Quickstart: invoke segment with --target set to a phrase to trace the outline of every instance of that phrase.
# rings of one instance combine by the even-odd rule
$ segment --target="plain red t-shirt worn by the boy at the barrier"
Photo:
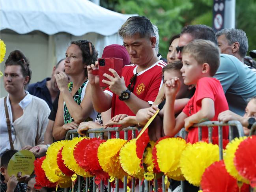
[[[214,101],[215,116],[210,121],[217,121],[220,112],[228,110],[228,102],[224,95],[222,86],[216,78],[200,78],[196,84],[196,91],[189,103],[183,109],[187,116],[197,113],[201,109],[202,99],[211,98]],[[228,139],[228,127],[222,128],[223,138]],[[213,137],[218,136],[218,127],[213,127]],[[207,127],[202,127],[202,138],[208,137]],[[191,144],[198,142],[198,127],[189,129],[187,142]]]

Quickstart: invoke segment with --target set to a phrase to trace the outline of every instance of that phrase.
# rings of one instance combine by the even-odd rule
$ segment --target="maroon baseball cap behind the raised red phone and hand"
[[[123,59],[123,66],[130,64],[130,56],[125,47],[112,44],[104,48],[102,58],[115,57]]]

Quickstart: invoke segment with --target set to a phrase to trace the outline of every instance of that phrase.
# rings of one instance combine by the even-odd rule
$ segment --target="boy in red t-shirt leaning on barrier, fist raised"
[[[183,111],[175,118],[174,101],[180,88],[180,81],[177,77],[166,81],[164,134],[174,136],[185,126],[189,131],[187,142],[193,144],[198,141],[198,127],[191,126],[205,120],[217,121],[219,113],[228,110],[228,103],[219,80],[212,78],[220,63],[219,48],[216,45],[211,41],[194,40],[183,48],[182,62],[184,84],[194,85],[196,91]],[[218,136],[217,127],[213,127],[213,136]],[[207,137],[208,129],[203,127],[202,138]],[[223,138],[228,138],[227,127],[223,127]]]

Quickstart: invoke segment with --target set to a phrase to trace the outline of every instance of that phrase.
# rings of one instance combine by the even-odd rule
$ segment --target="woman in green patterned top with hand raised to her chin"
[[[98,53],[90,41],[72,41],[65,54],[65,72],[56,74],[60,89],[58,110],[52,135],[56,140],[65,137],[68,130],[77,129],[79,123],[92,121],[97,116],[90,98],[87,65],[97,60]],[[67,84],[67,75],[73,80]]]

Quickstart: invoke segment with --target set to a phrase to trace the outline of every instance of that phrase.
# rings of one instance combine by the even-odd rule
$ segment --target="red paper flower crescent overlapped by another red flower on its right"
[[[83,139],[82,141],[78,142],[77,145],[74,147],[74,158],[77,164],[84,169],[84,151],[87,145],[92,141],[91,138]]]

